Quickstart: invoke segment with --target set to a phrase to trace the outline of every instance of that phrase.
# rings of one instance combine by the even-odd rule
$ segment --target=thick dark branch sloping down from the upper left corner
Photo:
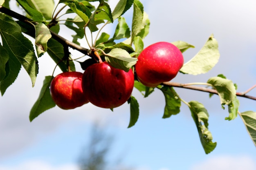
[[[30,23],[33,23],[33,24],[38,24],[38,22],[34,22],[33,20],[23,16],[23,15],[20,15],[19,13],[16,13],[8,8],[5,8],[3,6],[0,5],[0,12],[2,13],[5,13],[13,18],[16,18],[17,20],[25,23],[25,24],[28,24],[29,26],[31,26],[27,21],[29,21]],[[54,33],[52,30],[50,30],[51,34],[52,34],[52,38],[54,38],[55,40],[57,40],[58,42],[60,42],[61,44],[66,44],[67,46],[71,47],[72,49],[75,49],[77,51],[80,51],[81,53],[85,54],[85,55],[90,55],[90,50],[89,49],[85,49],[83,48],[82,46],[79,46],[78,44],[75,44],[74,42],[71,42],[63,37],[61,37],[60,35]],[[26,33],[28,34],[29,36],[35,38],[35,35],[32,34],[31,32],[29,33]]]

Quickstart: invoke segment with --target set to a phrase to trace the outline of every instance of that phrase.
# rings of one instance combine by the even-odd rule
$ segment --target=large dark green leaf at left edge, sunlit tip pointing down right
[[[34,86],[38,74],[38,61],[31,41],[24,37],[16,22],[3,14],[0,14],[0,35],[2,40],[6,42],[3,44],[4,48],[11,49],[8,52],[19,60],[29,74],[32,86]]]

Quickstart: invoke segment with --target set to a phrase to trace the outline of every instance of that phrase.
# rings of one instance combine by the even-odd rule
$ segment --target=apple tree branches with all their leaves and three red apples
[[[209,113],[198,101],[185,101],[175,88],[187,88],[218,95],[220,106],[227,107],[229,121],[238,115],[243,120],[252,141],[256,145],[256,112],[240,112],[239,97],[256,100],[247,91],[237,92],[234,84],[225,75],[209,77],[202,83],[176,83],[171,80],[179,74],[199,75],[213,68],[220,57],[218,42],[210,35],[206,43],[191,60],[184,63],[183,55],[193,45],[184,41],[155,42],[144,47],[144,38],[149,33],[150,20],[139,0],[119,0],[111,10],[104,0],[16,0],[23,13],[10,8],[9,0],[0,0],[0,91],[4,95],[15,82],[23,67],[34,86],[38,75],[38,58],[49,57],[63,73],[54,77],[46,75],[38,99],[31,108],[29,119],[54,106],[60,109],[75,109],[91,102],[95,106],[112,109],[128,102],[130,123],[135,125],[139,117],[139,101],[132,96],[137,89],[144,97],[163,93],[165,107],[163,118],[180,113],[181,104],[191,111],[202,147],[206,154],[216,148],[208,129]],[[47,4],[47,5],[45,5]],[[127,24],[124,13],[133,10],[132,23]],[[102,31],[117,20],[115,33]],[[61,35],[60,25],[74,31],[72,40]],[[90,42],[88,36],[92,37]],[[95,36],[92,36],[95,35]],[[32,41],[27,37],[34,38]],[[84,38],[89,48],[79,44]],[[81,57],[72,58],[70,49],[81,52]],[[48,55],[45,55],[47,53]],[[81,60],[83,60],[81,62]],[[79,65],[74,63],[78,62]],[[81,66],[84,73],[76,72]],[[202,87],[203,86],[203,87]],[[38,118],[40,119],[40,117]]]

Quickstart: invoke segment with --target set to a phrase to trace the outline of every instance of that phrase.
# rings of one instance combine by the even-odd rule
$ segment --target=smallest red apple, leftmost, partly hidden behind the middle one
[[[54,77],[50,85],[50,93],[57,106],[72,109],[88,103],[81,86],[82,76],[83,73],[73,71]]]

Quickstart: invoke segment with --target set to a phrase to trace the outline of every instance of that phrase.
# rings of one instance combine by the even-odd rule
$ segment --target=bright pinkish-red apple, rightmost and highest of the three
[[[148,87],[155,87],[173,79],[183,63],[180,49],[169,42],[157,42],[139,54],[135,71],[139,82]]]

